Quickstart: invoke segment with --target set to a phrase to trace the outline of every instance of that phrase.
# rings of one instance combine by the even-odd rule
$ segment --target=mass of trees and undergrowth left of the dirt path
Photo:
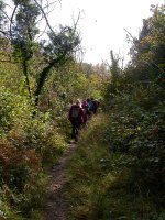
[[[0,219],[43,217],[45,167],[66,150],[70,103],[96,96],[105,80],[99,66],[77,64],[76,24],[51,28],[36,1],[0,1]],[[46,40],[38,21],[45,18]],[[46,32],[45,32],[46,34]]]

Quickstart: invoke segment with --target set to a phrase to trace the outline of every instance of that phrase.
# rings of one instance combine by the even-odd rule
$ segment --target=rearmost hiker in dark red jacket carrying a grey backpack
[[[77,99],[76,103],[70,107],[68,119],[73,125],[72,139],[78,141],[79,130],[84,123],[84,110],[79,99]]]

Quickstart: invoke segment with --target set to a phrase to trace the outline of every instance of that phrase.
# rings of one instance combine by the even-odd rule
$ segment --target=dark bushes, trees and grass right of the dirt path
[[[68,165],[72,220],[165,218],[164,9],[152,8],[124,70],[111,52],[106,113],[90,122]]]

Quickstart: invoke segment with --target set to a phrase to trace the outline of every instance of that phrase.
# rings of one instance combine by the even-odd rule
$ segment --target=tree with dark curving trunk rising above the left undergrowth
[[[38,105],[38,98],[48,77],[48,74],[54,67],[64,64],[76,52],[79,41],[79,35],[76,31],[77,22],[73,28],[61,26],[59,30],[53,30],[48,23],[45,8],[42,7],[42,1],[36,0],[12,0],[13,9],[11,15],[4,11],[4,6],[0,7],[0,11],[8,19],[8,30],[0,29],[3,37],[8,37],[13,47],[13,58],[22,66],[22,73],[25,77],[26,88],[30,98],[35,99],[35,105]],[[47,1],[46,8],[50,7]],[[2,4],[0,4],[2,6]],[[1,19],[2,22],[3,18]],[[45,20],[48,31],[47,40],[38,41],[38,21]],[[45,36],[46,38],[46,36]],[[42,57],[42,68],[35,69],[37,57]],[[32,91],[30,75],[35,79],[35,88]]]

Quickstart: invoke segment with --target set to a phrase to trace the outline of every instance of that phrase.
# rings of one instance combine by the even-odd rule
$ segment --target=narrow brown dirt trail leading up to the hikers
[[[45,220],[66,220],[65,211],[67,207],[63,198],[64,173],[66,162],[72,157],[76,145],[70,144],[57,165],[50,170]]]

